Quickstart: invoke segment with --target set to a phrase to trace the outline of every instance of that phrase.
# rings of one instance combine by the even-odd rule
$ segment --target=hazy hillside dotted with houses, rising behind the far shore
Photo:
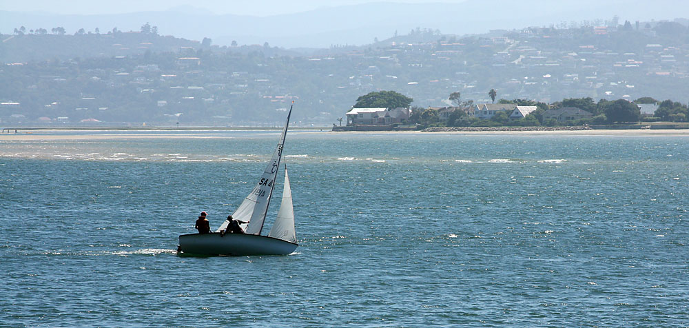
[[[358,96],[380,90],[410,96],[413,107],[438,109],[440,120],[449,119],[450,107],[479,119],[502,111],[524,118],[535,103],[575,98],[652,97],[657,103],[686,104],[689,47],[682,38],[689,35],[688,26],[687,19],[613,17],[464,37],[418,28],[370,45],[310,54],[267,43],[219,46],[210,39],[178,39],[149,24],[134,32],[115,28],[74,35],[59,28],[20,27],[0,36],[0,120],[12,125],[274,126],[289,103],[298,101],[302,111],[296,125],[328,126],[338,123],[343,108]],[[56,41],[92,56],[41,45]],[[497,90],[495,101],[533,104],[493,105],[491,89]],[[461,92],[475,105],[453,104],[451,92]],[[639,104],[642,114],[652,116],[657,103]],[[362,124],[351,114],[348,122]],[[404,116],[387,114],[390,122]],[[575,109],[553,119],[561,121],[560,116],[590,119]]]

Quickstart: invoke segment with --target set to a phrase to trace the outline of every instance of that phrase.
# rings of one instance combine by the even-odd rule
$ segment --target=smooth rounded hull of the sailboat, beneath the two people
[[[299,245],[269,236],[255,234],[183,234],[179,251],[184,255],[287,255]]]

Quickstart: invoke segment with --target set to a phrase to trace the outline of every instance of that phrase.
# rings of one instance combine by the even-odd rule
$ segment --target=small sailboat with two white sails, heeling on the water
[[[237,207],[232,217],[238,221],[247,222],[240,227],[244,234],[223,234],[229,221],[225,221],[215,232],[209,234],[183,234],[179,236],[179,255],[287,255],[298,247],[296,232],[294,229],[294,207],[292,206],[292,193],[289,187],[287,165],[282,164],[285,170],[285,183],[282,190],[282,202],[278,209],[278,216],[267,236],[261,235],[263,224],[270,204],[273,189],[276,185],[280,160],[282,159],[282,147],[285,145],[285,134],[289,125],[289,116],[292,106],[287,113],[287,122],[282,127],[282,134],[278,146],[273,152],[273,157],[265,171],[251,190],[249,196]]]

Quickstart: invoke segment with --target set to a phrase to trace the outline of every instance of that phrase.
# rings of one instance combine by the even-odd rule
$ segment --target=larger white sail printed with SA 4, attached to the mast
[[[287,113],[287,122],[285,122],[285,127],[282,127],[282,135],[280,135],[278,146],[275,148],[275,152],[273,152],[273,157],[260,176],[260,180],[256,183],[256,187],[251,190],[249,196],[244,198],[244,201],[232,213],[232,218],[249,222],[246,227],[243,227],[246,234],[260,234],[263,229],[265,214],[268,210],[270,198],[273,195],[275,178],[278,176],[278,167],[280,167],[280,159],[282,158],[282,146],[285,144],[285,134],[287,134],[287,126],[289,125],[289,116],[291,114],[292,107],[290,106],[289,113]],[[216,232],[227,229],[228,224],[228,221],[223,222]]]

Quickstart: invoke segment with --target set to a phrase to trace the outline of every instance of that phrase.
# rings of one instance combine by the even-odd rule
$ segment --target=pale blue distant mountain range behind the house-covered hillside
[[[80,28],[101,33],[139,30],[149,22],[161,34],[214,44],[261,44],[282,48],[328,48],[330,45],[363,45],[374,38],[388,39],[397,31],[407,34],[413,28],[438,29],[444,34],[477,34],[495,29],[544,26],[599,19],[670,19],[678,12],[689,12],[681,0],[468,0],[462,3],[364,3],[325,7],[295,14],[269,17],[216,15],[197,8],[127,14],[65,15],[46,12],[0,11],[0,32],[14,28],[26,30],[61,26],[68,33]]]

